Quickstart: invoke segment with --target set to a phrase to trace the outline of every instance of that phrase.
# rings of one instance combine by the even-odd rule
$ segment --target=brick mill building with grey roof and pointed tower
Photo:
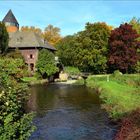
[[[38,52],[40,49],[48,49],[55,52],[56,49],[34,32],[19,31],[19,23],[11,10],[2,20],[5,23],[9,33],[9,50],[18,49],[28,65],[28,70],[35,71],[35,65],[38,60]]]

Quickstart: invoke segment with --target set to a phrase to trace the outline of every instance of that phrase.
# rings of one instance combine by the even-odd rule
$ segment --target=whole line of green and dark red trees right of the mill
[[[140,72],[140,21],[112,28],[106,23],[87,23],[85,29],[56,44],[65,66],[94,74]]]

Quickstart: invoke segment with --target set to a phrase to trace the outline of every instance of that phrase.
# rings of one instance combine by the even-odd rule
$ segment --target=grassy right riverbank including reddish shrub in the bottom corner
[[[115,140],[140,138],[140,75],[89,76],[88,87],[94,88],[114,120],[121,120]]]

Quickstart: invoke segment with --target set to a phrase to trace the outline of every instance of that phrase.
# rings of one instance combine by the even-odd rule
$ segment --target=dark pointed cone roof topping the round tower
[[[12,10],[9,10],[2,22],[10,22],[10,23],[15,23],[18,24],[17,19],[15,18]],[[19,24],[18,24],[19,25]]]

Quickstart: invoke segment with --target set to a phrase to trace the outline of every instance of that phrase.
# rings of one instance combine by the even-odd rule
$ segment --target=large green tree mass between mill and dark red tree
[[[107,69],[110,32],[110,26],[105,23],[87,23],[84,31],[68,36],[57,44],[58,56],[67,66],[104,73]]]

